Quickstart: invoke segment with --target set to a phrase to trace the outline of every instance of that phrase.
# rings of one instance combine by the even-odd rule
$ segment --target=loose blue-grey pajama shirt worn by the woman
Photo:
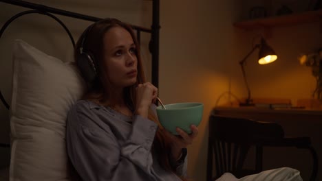
[[[153,105],[155,109],[155,105]],[[158,125],[92,101],[77,101],[67,118],[67,153],[77,173],[92,180],[180,180],[151,154]],[[173,162],[173,160],[171,161]],[[186,175],[186,158],[176,169]]]

